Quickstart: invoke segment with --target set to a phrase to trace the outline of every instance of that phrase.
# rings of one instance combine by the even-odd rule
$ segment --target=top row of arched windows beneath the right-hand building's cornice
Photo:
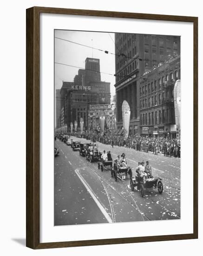
[[[150,83],[148,83],[148,85],[141,85],[140,87],[140,96],[141,95],[147,95],[150,94],[154,91],[157,91],[157,89],[160,89],[161,86],[164,85],[164,82],[167,81],[172,81],[172,80],[177,80],[178,79],[178,71],[176,70],[173,74],[173,72],[171,72],[170,74],[166,74],[163,75],[161,78],[159,78],[158,80],[154,80]]]

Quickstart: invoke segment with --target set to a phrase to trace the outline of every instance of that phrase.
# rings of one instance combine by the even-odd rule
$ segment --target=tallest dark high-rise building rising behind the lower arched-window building
[[[115,34],[117,128],[123,127],[122,103],[131,108],[130,134],[140,135],[140,77],[171,56],[180,54],[180,37]]]

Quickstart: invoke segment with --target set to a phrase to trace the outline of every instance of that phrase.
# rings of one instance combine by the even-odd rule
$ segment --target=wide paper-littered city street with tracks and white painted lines
[[[89,142],[71,136],[73,141]],[[98,143],[100,151],[111,151],[113,160],[125,154],[133,176],[138,162],[147,160],[153,176],[162,178],[163,194],[145,190],[144,197],[130,189],[125,180],[111,177],[109,168],[101,172],[98,162],[90,163],[79,151],[55,141],[59,156],[54,159],[54,225],[135,222],[180,219],[180,159],[139,152],[134,149]]]

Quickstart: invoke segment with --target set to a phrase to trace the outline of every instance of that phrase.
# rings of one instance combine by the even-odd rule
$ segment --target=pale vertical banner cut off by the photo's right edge
[[[179,79],[176,81],[176,83],[174,85],[173,95],[174,95],[174,108],[175,108],[177,138],[180,138],[181,101],[180,101],[180,80]]]

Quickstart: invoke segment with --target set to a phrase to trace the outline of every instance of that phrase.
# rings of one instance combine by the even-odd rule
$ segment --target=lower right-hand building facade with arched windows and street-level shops
[[[160,63],[140,79],[140,133],[176,137],[174,85],[180,80],[180,55]]]

